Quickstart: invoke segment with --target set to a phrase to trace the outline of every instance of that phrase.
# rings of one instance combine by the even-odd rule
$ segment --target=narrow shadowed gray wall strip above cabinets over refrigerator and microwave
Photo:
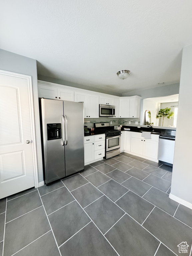
[[[114,93],[112,91],[109,92],[109,90],[98,89],[98,88],[83,85],[83,84],[76,84],[76,83],[72,83],[69,81],[65,81],[65,80],[61,80],[61,79],[53,78],[53,77],[48,77],[48,76],[38,75],[38,80],[55,83],[55,84],[62,84],[62,85],[70,86],[70,87],[93,91],[93,92],[100,92],[100,93],[106,93],[106,94],[111,94],[111,95],[115,95],[115,96],[122,96],[121,93]]]

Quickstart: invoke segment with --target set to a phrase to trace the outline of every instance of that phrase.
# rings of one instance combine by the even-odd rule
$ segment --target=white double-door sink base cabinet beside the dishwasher
[[[144,139],[141,133],[131,132],[130,152],[148,158],[158,159],[159,135],[151,134],[151,139]]]

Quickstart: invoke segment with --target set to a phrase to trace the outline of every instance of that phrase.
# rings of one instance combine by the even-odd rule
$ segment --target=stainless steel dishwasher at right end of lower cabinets
[[[173,164],[174,149],[175,137],[166,135],[159,136],[159,161]]]

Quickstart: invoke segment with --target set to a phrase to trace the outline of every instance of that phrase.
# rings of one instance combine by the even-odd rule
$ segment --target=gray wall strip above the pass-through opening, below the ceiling
[[[143,99],[145,99],[145,98],[173,95],[173,94],[178,94],[178,93],[179,93],[179,83],[164,85],[164,86],[155,87],[155,88],[146,89],[146,90],[124,93],[122,96],[138,95],[138,96],[141,96]]]

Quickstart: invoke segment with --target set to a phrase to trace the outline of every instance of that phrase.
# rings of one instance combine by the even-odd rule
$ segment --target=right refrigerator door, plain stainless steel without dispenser
[[[64,101],[66,176],[84,169],[84,110],[82,102]]]

